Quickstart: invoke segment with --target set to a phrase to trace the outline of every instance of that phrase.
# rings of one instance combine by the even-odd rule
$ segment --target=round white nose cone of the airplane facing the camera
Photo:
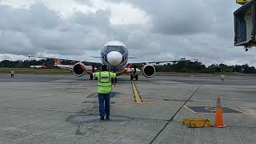
[[[110,63],[112,66],[118,66],[122,62],[122,54],[118,51],[111,51],[106,56],[107,62]]]

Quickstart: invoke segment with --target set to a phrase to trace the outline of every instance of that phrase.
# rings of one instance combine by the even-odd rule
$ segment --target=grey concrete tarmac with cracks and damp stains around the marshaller
[[[118,77],[110,121],[100,121],[97,82],[88,76],[0,74],[0,143],[256,142],[256,78],[141,76],[135,84],[142,103],[134,102],[129,79]],[[224,113],[226,128],[182,125],[183,118],[214,123],[210,106],[218,94],[222,106],[239,112]]]

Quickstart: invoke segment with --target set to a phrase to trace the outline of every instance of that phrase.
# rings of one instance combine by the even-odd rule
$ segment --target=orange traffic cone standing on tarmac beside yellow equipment
[[[218,128],[225,127],[224,122],[223,122],[222,106],[221,106],[221,95],[220,94],[218,94],[218,97],[217,97],[214,126],[218,127]]]

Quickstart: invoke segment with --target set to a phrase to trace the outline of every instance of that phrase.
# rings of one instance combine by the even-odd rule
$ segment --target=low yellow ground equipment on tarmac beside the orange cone
[[[204,118],[183,119],[182,124],[190,128],[211,127],[210,120]]]

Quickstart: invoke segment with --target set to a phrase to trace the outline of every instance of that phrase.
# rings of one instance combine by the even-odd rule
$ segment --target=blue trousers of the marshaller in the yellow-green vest
[[[104,106],[105,102],[105,106]],[[99,94],[98,93],[98,104],[99,104],[99,115],[108,116],[110,115],[110,93],[108,94]]]

